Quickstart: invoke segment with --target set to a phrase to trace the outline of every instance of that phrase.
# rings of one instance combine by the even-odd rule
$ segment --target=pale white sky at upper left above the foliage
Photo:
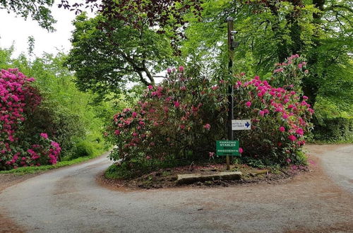
[[[72,20],[75,18],[73,11],[58,8],[57,3],[52,7],[52,16],[57,23],[54,25],[55,32],[48,32],[40,28],[40,25],[31,18],[25,20],[15,14],[8,14],[0,10],[0,47],[8,48],[14,43],[15,52],[18,56],[21,52],[28,53],[28,37],[35,37],[35,56],[41,56],[43,52],[56,54],[59,51],[68,52],[71,48],[70,38],[73,31]]]

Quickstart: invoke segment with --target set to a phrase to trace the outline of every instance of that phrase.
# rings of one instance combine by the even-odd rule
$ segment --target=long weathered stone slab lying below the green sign
[[[192,184],[198,181],[213,181],[216,179],[241,179],[241,172],[217,172],[214,174],[178,174],[177,184]]]

